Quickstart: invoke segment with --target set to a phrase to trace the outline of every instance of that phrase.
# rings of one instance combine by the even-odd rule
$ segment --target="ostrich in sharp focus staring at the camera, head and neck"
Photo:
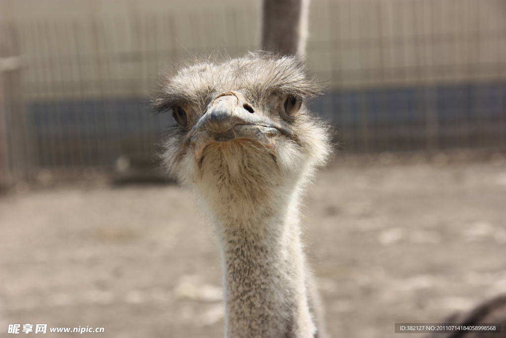
[[[269,52],[196,60],[160,80],[153,106],[177,122],[161,158],[214,224],[227,337],[325,336],[299,224],[331,151],[306,105],[320,93],[300,57]]]

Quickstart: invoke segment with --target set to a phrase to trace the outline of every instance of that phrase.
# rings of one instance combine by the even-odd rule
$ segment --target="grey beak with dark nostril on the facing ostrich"
[[[272,138],[279,134],[293,135],[282,126],[256,112],[238,92],[225,92],[211,102],[186,136],[185,143],[194,146],[197,162],[203,149],[213,142],[230,142],[244,138],[259,142],[274,151]]]

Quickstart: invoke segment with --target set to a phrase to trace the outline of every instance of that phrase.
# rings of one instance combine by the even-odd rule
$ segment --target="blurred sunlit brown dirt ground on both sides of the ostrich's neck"
[[[306,199],[306,251],[333,337],[401,338],[394,323],[441,322],[506,292],[504,157],[383,160],[333,164]],[[0,197],[2,336],[44,323],[222,337],[219,252],[193,198],[98,181]]]

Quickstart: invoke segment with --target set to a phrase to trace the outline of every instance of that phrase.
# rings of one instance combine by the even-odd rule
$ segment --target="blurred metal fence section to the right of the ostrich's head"
[[[315,5],[309,55],[331,94],[314,110],[344,151],[506,146],[506,2]]]

